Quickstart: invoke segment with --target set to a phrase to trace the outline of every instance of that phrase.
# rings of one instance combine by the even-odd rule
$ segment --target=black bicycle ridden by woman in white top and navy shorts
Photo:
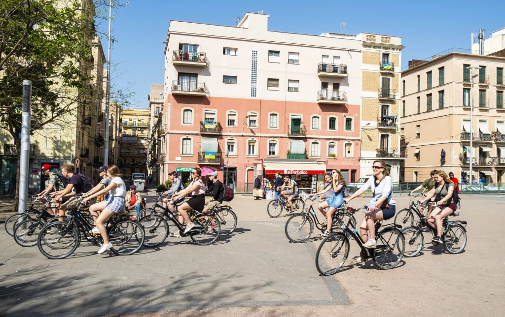
[[[354,215],[357,211],[365,208],[347,208],[347,212]],[[340,221],[339,221],[340,222]],[[352,225],[351,220],[347,224],[341,223],[342,232],[335,232],[324,238],[316,252],[316,268],[322,275],[332,275],[342,267],[349,255],[349,238],[354,238],[361,248],[360,257],[363,261],[372,259],[374,264],[382,270],[389,270],[400,263],[405,252],[405,238],[394,223],[383,226],[379,231],[382,220],[375,223],[375,239],[377,246],[366,248],[365,241],[358,234],[358,230]]]

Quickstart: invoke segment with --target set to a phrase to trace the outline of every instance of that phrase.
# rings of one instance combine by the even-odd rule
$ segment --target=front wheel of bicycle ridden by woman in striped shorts
[[[40,231],[37,245],[40,252],[49,259],[64,259],[79,245],[79,230],[73,224],[63,221],[47,223]]]

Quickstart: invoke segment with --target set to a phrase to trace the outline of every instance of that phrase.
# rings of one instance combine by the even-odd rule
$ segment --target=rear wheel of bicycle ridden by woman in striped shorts
[[[107,229],[111,250],[120,256],[128,256],[140,249],[144,243],[144,228],[136,221],[122,218]]]

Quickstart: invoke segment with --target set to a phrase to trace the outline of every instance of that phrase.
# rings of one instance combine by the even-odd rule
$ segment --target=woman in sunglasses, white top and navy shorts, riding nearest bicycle
[[[363,246],[367,248],[377,246],[377,241],[375,241],[375,222],[392,218],[396,211],[396,203],[393,198],[393,181],[391,176],[389,176],[386,163],[381,160],[374,161],[372,168],[374,172],[373,177],[370,177],[351,197],[344,199],[345,204],[347,204],[352,199],[363,194],[368,188],[372,188],[373,197],[368,203],[368,211],[360,225],[360,235],[363,241],[367,241]]]

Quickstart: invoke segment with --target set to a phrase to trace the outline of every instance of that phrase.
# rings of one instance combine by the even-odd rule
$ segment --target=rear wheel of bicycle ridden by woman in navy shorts
[[[396,228],[386,228],[376,237],[377,246],[372,251],[374,263],[379,269],[389,270],[400,263],[405,252],[405,237]]]

